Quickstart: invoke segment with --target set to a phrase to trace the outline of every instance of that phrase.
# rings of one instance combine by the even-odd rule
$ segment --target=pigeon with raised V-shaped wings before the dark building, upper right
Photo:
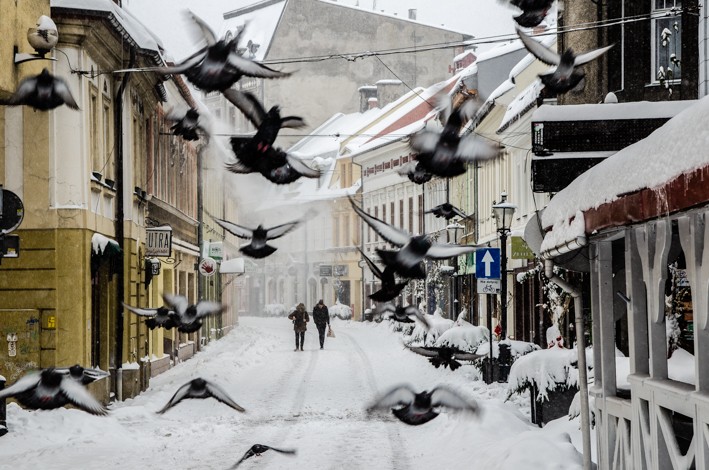
[[[544,86],[554,93],[566,93],[576,87],[585,76],[583,70],[579,69],[579,67],[600,57],[613,47],[611,44],[581,55],[574,54],[574,51],[569,48],[559,55],[519,29],[517,29],[517,35],[522,40],[524,47],[534,57],[547,65],[556,66],[551,72],[539,75]]]

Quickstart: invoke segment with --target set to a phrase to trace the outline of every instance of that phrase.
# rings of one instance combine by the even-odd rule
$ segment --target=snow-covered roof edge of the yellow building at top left
[[[67,10],[82,10],[109,16],[116,29],[123,32],[123,36],[135,42],[135,45],[144,51],[153,51],[162,54],[164,47],[160,39],[155,36],[129,11],[116,5],[111,0],[51,0],[52,9],[63,8]],[[121,31],[122,30],[122,31]]]

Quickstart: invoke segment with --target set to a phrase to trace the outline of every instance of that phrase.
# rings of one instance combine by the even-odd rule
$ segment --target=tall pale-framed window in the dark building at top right
[[[652,81],[666,83],[681,77],[682,0],[652,2]]]

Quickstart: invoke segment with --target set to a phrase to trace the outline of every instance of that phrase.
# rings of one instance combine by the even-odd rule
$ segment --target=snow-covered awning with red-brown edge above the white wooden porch
[[[709,203],[707,121],[709,97],[576,178],[542,215],[543,246]]]

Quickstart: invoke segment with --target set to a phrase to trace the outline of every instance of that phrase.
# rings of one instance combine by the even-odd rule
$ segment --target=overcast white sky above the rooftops
[[[226,11],[252,5],[259,0],[124,0],[123,6],[150,27],[163,41],[170,55],[180,60],[194,47],[185,31],[182,10],[189,8],[219,33],[222,14]],[[498,0],[339,0],[345,5],[360,8],[376,7],[385,13],[397,13],[406,18],[408,10],[417,10],[422,23],[444,25],[454,31],[472,34],[477,38],[514,33],[513,9],[500,5]],[[474,6],[473,6],[474,5]],[[481,46],[479,51],[490,46]]]

